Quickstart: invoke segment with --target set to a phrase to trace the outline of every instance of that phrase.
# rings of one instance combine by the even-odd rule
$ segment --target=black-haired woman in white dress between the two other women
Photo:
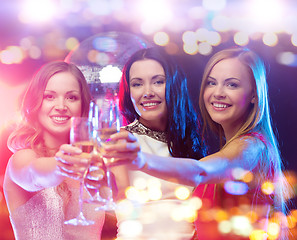
[[[123,132],[132,133],[143,152],[164,157],[200,159],[205,156],[206,149],[198,131],[200,122],[189,97],[187,78],[161,49],[142,49],[131,56],[123,69],[119,102],[128,122]],[[117,211],[119,238],[178,240],[193,234],[193,225],[186,219],[176,222],[171,218],[172,211],[183,204],[175,196],[175,190],[183,187],[189,196],[192,188],[141,171],[128,171],[128,178],[129,189],[139,188],[137,182],[143,181],[141,194],[147,197],[130,199],[133,211],[129,214]],[[150,196],[152,182],[155,182],[156,195]],[[152,214],[154,221],[144,221],[147,214]],[[135,233],[138,228],[130,229],[127,224],[131,221],[142,224],[142,231]]]

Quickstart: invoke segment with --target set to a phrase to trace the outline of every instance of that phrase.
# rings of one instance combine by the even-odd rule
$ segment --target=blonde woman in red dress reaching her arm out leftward
[[[108,146],[106,155],[117,151],[117,159],[129,162],[130,169],[198,186],[194,196],[203,202],[196,221],[199,240],[287,239],[283,214],[289,188],[272,129],[261,58],[245,48],[214,54],[204,70],[199,105],[204,128],[208,125],[220,137],[218,152],[199,161],[161,157],[139,151],[140,142],[130,134],[119,133],[112,139],[126,141]],[[229,234],[226,229],[220,233],[212,215],[219,209],[225,212],[226,221],[231,223],[237,216],[244,222],[236,229],[229,225]],[[203,221],[203,216],[213,221]]]

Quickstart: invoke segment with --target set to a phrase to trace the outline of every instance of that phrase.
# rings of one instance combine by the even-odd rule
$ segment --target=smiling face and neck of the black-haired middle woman
[[[129,75],[130,96],[139,121],[154,130],[165,130],[166,76],[162,65],[152,59],[136,61]]]

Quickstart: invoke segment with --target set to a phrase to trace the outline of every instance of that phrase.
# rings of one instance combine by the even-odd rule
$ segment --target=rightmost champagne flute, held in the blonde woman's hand
[[[102,103],[99,122],[98,122],[98,142],[100,144],[99,150],[103,154],[104,146],[113,144],[114,142],[110,139],[110,136],[120,130],[120,117],[118,105],[115,97],[106,97]],[[106,186],[103,187],[104,197],[106,203],[102,207],[98,207],[96,210],[115,210],[116,203],[113,199],[113,190],[116,188],[115,178],[110,170],[110,165],[114,162],[114,158],[102,157],[106,166]]]

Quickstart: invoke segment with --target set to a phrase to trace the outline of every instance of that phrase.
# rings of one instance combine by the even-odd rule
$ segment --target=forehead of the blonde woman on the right
[[[210,71],[210,76],[221,78],[250,79],[249,67],[238,58],[228,58],[219,61]]]

